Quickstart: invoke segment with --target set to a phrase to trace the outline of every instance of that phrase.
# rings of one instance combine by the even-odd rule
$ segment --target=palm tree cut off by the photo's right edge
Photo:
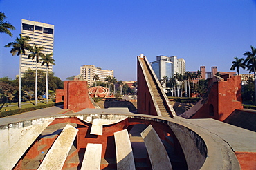
[[[246,57],[246,60],[244,63],[246,63],[247,70],[254,74],[254,83],[255,83],[255,101],[256,101],[256,49],[252,45],[250,46],[250,49],[252,50],[247,51],[244,53],[244,56]]]

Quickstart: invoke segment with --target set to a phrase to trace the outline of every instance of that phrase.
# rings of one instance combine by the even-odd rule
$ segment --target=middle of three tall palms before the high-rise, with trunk
[[[37,63],[39,63],[39,58],[44,58],[44,54],[42,53],[42,50],[44,49],[43,46],[38,47],[34,43],[34,47],[30,49],[30,54],[28,55],[28,59],[35,59],[35,105],[37,106]]]

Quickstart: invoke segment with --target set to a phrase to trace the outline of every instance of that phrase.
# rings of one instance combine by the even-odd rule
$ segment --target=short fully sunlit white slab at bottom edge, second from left
[[[81,170],[99,170],[102,144],[88,143],[84,153]]]

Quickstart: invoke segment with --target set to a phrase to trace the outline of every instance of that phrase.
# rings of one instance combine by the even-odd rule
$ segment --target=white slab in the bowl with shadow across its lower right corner
[[[118,170],[135,169],[134,155],[127,129],[114,133],[116,143],[116,163]]]

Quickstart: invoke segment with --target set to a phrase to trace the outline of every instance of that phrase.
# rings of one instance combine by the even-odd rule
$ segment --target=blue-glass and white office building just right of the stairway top
[[[153,61],[151,65],[158,80],[161,80],[163,76],[170,78],[176,72],[183,74],[186,70],[185,60],[177,59],[176,56],[156,56],[156,61]]]

